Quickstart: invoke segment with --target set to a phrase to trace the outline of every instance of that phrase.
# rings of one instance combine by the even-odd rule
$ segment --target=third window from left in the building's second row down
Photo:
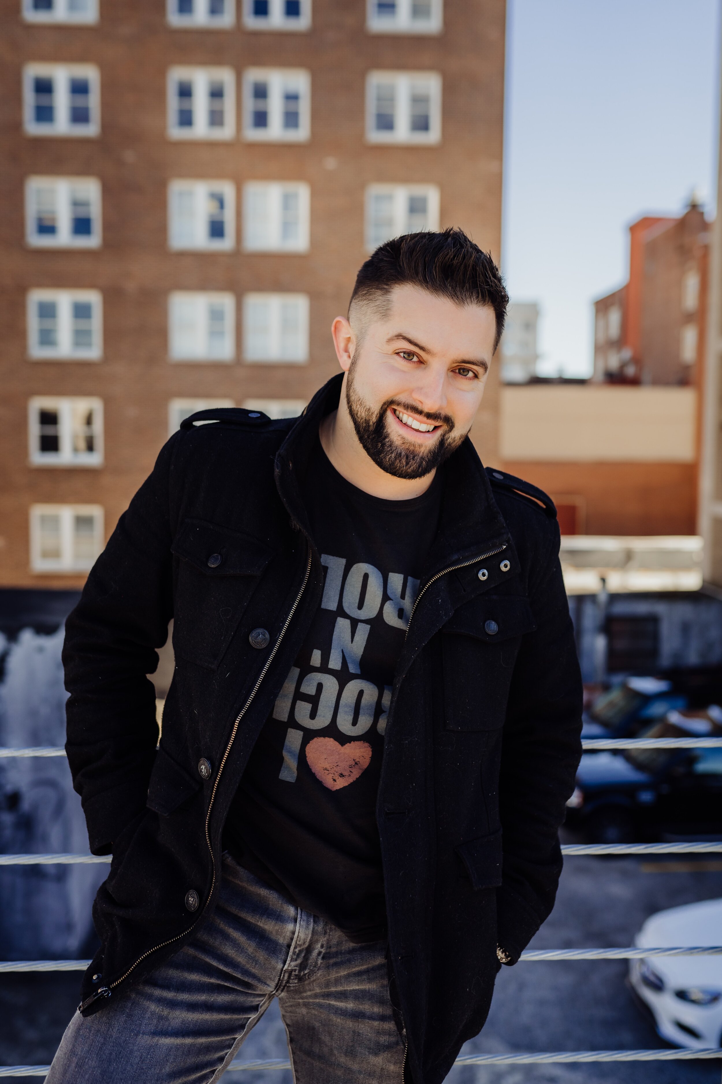
[[[247,68],[244,137],[301,142],[311,137],[311,75],[297,68]]]

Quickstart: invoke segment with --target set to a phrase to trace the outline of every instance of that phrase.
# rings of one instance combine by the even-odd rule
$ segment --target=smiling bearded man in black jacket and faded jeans
[[[459,230],[382,245],[343,378],[298,420],[189,418],[121,517],[67,622],[113,865],[50,1084],[218,1081],[274,996],[299,1084],[437,1084],[551,911],[581,714],[559,529],[467,439],[507,302]]]

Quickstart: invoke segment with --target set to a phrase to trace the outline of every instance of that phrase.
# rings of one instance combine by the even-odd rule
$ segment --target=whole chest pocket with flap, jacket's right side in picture
[[[522,636],[535,629],[524,596],[484,595],[456,611],[442,629],[446,730],[503,726]]]

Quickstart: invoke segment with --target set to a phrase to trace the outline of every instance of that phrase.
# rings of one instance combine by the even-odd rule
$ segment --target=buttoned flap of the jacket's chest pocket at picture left
[[[207,576],[260,576],[273,557],[251,534],[202,519],[184,520],[171,551]]]

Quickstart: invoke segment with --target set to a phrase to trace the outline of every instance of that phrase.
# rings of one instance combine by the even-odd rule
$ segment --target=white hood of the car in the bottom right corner
[[[704,900],[659,911],[634,938],[640,949],[722,944],[722,900]],[[714,986],[722,990],[721,956],[660,956],[651,964],[668,986]]]

